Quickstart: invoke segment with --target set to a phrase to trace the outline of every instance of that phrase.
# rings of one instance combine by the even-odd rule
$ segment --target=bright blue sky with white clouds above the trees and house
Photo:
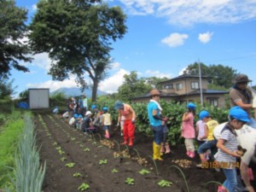
[[[113,44],[113,67],[100,90],[116,92],[124,74],[175,78],[195,61],[232,67],[256,84],[256,0],[105,0],[119,5],[127,15],[128,32]],[[36,13],[36,0],[17,0],[28,9],[28,21]],[[73,77],[53,81],[47,72],[47,54],[23,63],[30,73],[12,71],[16,91],[28,88],[76,86]],[[84,77],[88,79],[88,77]],[[230,79],[231,80],[231,79]],[[89,79],[90,82],[90,79]]]

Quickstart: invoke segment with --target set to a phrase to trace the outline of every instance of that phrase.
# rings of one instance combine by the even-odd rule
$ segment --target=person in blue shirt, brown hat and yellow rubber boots
[[[160,92],[156,89],[150,90],[151,100],[148,103],[148,119],[150,123],[150,127],[154,132],[154,142],[153,142],[153,158],[154,160],[163,160],[160,157],[160,148],[161,143],[163,142],[163,128],[166,118],[162,117],[159,100],[160,100]]]

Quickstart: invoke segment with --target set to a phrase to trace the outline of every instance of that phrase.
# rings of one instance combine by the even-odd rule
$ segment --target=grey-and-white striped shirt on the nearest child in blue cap
[[[238,142],[236,139],[236,135],[234,133],[232,133],[230,130],[225,129],[221,133],[220,138],[225,140],[225,143],[224,143],[225,148],[228,148],[228,150],[230,150],[230,151],[237,150]],[[234,168],[234,165],[236,163],[236,157],[233,157],[230,154],[224,153],[224,151],[221,150],[220,148],[218,148],[218,153],[215,154],[214,157],[218,161],[218,163],[220,163],[221,165],[224,165],[224,164],[228,165],[223,168],[225,168],[225,169]]]

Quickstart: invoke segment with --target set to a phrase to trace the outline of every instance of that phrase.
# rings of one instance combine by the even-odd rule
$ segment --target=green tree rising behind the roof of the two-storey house
[[[201,75],[210,77],[212,79],[212,84],[224,87],[225,89],[229,89],[232,86],[232,79],[237,75],[236,69],[220,64],[209,66],[206,66],[203,63],[200,64]],[[194,64],[190,64],[185,73],[199,75],[199,63],[195,62]]]

